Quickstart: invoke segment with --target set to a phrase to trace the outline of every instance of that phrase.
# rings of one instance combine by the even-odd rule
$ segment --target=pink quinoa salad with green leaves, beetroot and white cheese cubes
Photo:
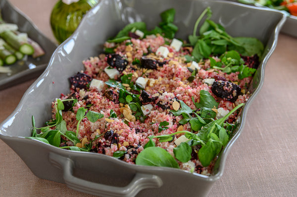
[[[174,38],[174,28],[168,36],[168,12],[174,18],[175,10],[161,13],[156,31],[142,22],[129,24],[104,43],[104,53],[82,61],[85,69],[69,78],[70,92],[52,102],[46,126],[37,128],[32,117],[30,138],[131,164],[210,175],[249,98],[260,54],[237,47],[240,39],[232,37],[214,42],[226,43],[220,52],[201,31],[196,42],[196,30],[190,41]],[[218,31],[206,22],[204,32]]]

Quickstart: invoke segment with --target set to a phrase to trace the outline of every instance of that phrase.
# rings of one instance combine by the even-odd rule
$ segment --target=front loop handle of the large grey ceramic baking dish
[[[125,187],[94,183],[73,175],[75,165],[71,158],[50,153],[49,160],[56,167],[63,170],[63,179],[69,188],[88,194],[104,197],[134,197],[141,190],[159,188],[163,184],[158,176],[144,173],[136,173],[132,181]]]

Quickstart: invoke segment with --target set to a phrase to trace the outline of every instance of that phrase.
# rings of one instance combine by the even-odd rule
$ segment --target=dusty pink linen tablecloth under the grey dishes
[[[53,41],[50,11],[57,0],[10,0]],[[0,91],[0,122],[35,79]],[[297,38],[280,35],[265,82],[248,109],[223,177],[209,197],[297,196]],[[0,197],[93,197],[36,177],[0,140]]]

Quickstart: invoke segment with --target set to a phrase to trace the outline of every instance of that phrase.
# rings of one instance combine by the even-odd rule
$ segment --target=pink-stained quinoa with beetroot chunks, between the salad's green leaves
[[[123,155],[119,159],[134,164],[150,136],[179,131],[199,132],[191,127],[189,121],[181,124],[182,115],[173,115],[172,111],[181,109],[181,101],[199,113],[193,101],[199,103],[200,91],[205,90],[218,103],[217,108],[211,109],[215,114],[218,114],[218,109],[219,112],[229,112],[247,101],[247,84],[252,77],[239,79],[238,72],[226,74],[213,69],[209,59],[198,63],[187,62],[185,56],[191,55],[193,48],[186,46],[176,51],[168,44],[170,41],[160,35],[151,35],[144,39],[127,39],[121,43],[106,42],[104,47],[114,48],[114,54],[99,54],[82,62],[85,70],[70,78],[70,93],[61,94],[60,97],[61,100],[70,98],[77,101],[68,104],[62,112],[67,130],[77,132],[78,129],[80,142],[76,143],[77,147],[89,145],[91,152],[111,157],[121,151]],[[156,54],[160,46],[168,50],[166,56]],[[220,61],[218,57],[212,58]],[[199,68],[196,75],[192,75],[193,69],[189,69],[192,64],[196,65],[194,70]],[[104,72],[106,69],[117,71],[112,79],[110,74]],[[90,86],[92,79],[99,80],[101,88]],[[117,81],[129,93],[125,97],[123,90],[116,85]],[[139,99],[137,105],[133,104],[135,95]],[[52,118],[56,115],[54,105],[52,103]],[[92,122],[85,117],[77,127],[76,115],[81,107],[98,112],[103,118]],[[235,112],[227,122],[235,123],[237,116]],[[152,138],[155,146],[165,149],[173,157],[177,144],[187,140],[183,133],[173,135],[167,142]],[[63,138],[60,146],[66,145],[74,144]],[[192,147],[192,158],[189,161],[176,161],[181,169],[209,175],[216,158],[210,165],[203,167],[198,159],[200,148],[199,145]]]

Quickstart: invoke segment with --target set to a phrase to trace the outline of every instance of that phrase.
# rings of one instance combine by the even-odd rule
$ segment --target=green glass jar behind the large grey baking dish
[[[98,3],[98,0],[59,0],[50,15],[50,26],[54,37],[63,42],[78,27],[83,16]]]

